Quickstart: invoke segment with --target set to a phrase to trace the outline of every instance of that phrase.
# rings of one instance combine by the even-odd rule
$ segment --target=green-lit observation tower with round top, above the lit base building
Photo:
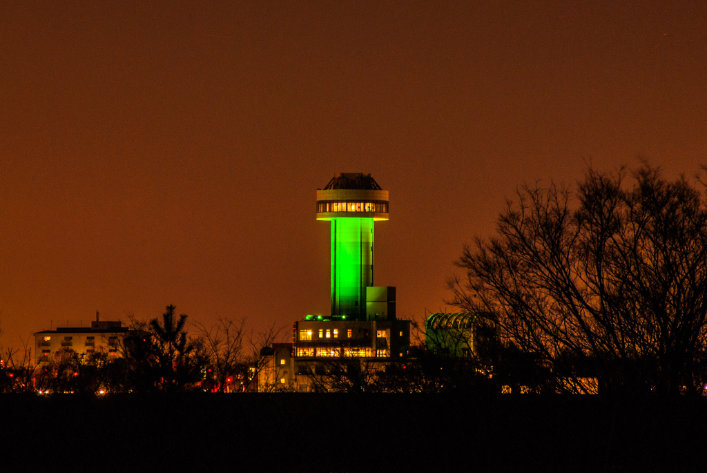
[[[335,174],[317,189],[317,220],[332,228],[332,318],[395,318],[395,288],[373,286],[373,222],[387,219],[388,192],[370,174]]]

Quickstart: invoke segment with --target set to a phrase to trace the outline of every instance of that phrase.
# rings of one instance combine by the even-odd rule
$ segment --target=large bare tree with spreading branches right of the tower
[[[595,373],[608,392],[701,392],[707,209],[684,177],[644,164],[590,169],[577,192],[520,187],[457,265],[454,303],[549,366],[554,389],[586,391]]]

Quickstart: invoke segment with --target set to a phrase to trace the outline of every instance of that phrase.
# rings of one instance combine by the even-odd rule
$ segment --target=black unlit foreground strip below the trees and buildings
[[[0,471],[697,471],[703,399],[0,396]]]

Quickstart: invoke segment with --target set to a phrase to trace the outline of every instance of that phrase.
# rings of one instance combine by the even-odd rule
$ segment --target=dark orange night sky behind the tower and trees
[[[522,182],[707,163],[701,1],[0,1],[0,337],[329,310],[315,189],[390,191],[375,284],[444,308]]]

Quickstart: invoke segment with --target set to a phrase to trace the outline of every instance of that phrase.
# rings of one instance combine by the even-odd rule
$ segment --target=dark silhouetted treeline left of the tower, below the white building
[[[161,318],[132,319],[118,341],[115,355],[95,351],[55,352],[49,361],[37,360],[25,350],[8,350],[0,369],[1,392],[148,393],[246,392],[262,368],[259,352],[278,331],[247,332],[245,320],[219,317],[211,329],[187,333],[187,315],[176,315],[168,305]],[[23,355],[23,356],[22,356]]]

